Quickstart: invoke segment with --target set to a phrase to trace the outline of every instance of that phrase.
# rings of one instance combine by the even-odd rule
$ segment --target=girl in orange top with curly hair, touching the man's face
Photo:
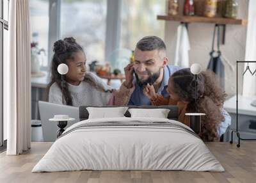
[[[197,88],[195,88],[195,82],[197,82]],[[200,137],[204,141],[219,140],[218,128],[224,118],[221,108],[226,94],[211,71],[207,70],[198,74],[197,81],[190,72],[190,68],[174,72],[168,81],[167,92],[170,94],[168,99],[157,94],[154,87],[149,84],[143,92],[153,106],[179,106],[179,122],[188,126],[190,126],[189,118],[185,116],[185,113],[205,113]]]

